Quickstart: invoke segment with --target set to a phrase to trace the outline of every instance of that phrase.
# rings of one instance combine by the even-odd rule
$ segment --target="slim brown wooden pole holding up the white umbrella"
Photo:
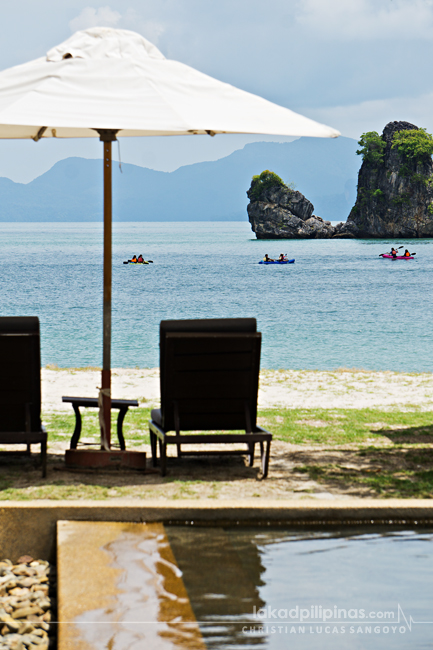
[[[117,131],[98,130],[104,143],[104,300],[102,339],[102,378],[99,400],[101,449],[111,447],[111,286],[112,286],[112,178],[111,143]]]

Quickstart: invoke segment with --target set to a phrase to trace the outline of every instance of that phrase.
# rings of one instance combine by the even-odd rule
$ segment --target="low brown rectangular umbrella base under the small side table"
[[[146,452],[144,451],[105,451],[105,449],[67,449],[66,467],[101,469],[105,467],[128,467],[146,469]]]

